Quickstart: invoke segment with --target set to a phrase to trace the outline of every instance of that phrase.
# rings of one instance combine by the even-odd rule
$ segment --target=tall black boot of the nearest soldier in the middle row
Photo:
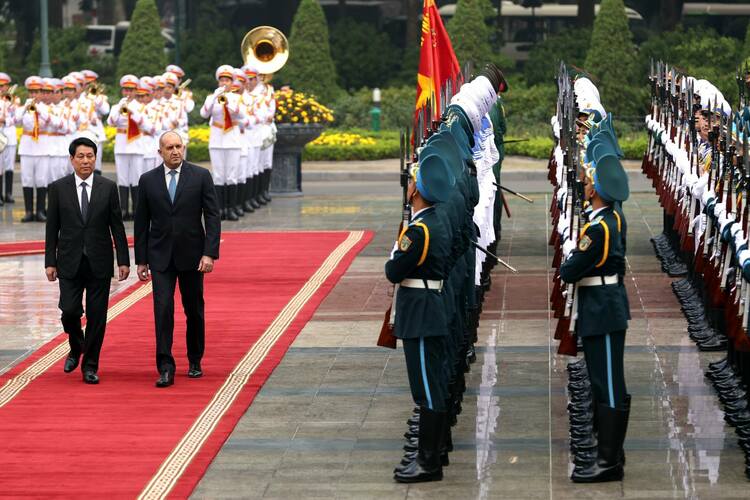
[[[574,483],[621,481],[622,444],[625,441],[630,410],[599,405],[596,412],[598,438],[596,461],[576,467],[570,479]]]

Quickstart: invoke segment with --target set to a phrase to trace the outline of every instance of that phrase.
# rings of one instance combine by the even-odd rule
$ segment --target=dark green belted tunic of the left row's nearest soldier
[[[426,256],[420,264],[429,232]],[[451,250],[451,235],[443,226],[434,207],[418,214],[399,240],[393,258],[385,264],[385,275],[391,283],[406,278],[445,280],[446,261]],[[448,320],[443,297],[438,290],[399,287],[396,296],[394,335],[400,339],[448,335]]]

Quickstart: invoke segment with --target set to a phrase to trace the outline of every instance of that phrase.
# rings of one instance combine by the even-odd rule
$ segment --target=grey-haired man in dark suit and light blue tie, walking
[[[210,273],[219,258],[221,219],[214,183],[208,170],[183,161],[184,151],[176,132],[162,134],[159,154],[164,162],[138,182],[135,261],[141,281],[148,279],[150,268],[154,287],[157,387],[174,383],[177,282],[187,318],[188,377],[203,375],[203,274]]]

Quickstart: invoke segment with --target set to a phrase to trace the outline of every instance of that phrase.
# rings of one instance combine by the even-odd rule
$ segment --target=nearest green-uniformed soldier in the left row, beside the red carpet
[[[399,285],[393,333],[403,343],[409,387],[420,409],[417,453],[407,451],[394,471],[394,479],[403,483],[443,478],[441,449],[450,425],[444,358],[449,329],[442,290],[451,235],[434,204],[449,198],[455,182],[438,155],[420,158],[419,166],[412,167],[407,191],[411,221],[385,265],[388,280]]]

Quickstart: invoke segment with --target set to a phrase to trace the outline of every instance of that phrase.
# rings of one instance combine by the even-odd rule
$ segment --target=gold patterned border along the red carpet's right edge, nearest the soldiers
[[[193,425],[143,489],[138,496],[139,499],[166,498],[279,337],[363,236],[364,231],[350,232],[349,236],[326,258],[302,289],[292,297],[263,335],[227,376],[211,402],[193,422]]]

